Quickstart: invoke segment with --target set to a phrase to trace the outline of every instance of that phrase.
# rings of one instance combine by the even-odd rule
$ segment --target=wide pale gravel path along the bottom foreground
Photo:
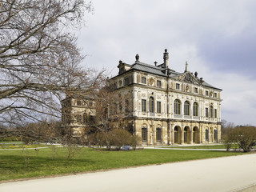
[[[1,192],[255,191],[256,154],[0,184]]]

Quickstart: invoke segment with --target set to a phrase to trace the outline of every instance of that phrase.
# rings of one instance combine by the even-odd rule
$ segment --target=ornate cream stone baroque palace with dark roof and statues
[[[119,61],[118,75],[110,78],[114,94],[122,98],[124,105],[119,103],[118,107],[114,103],[108,118],[113,120],[122,114],[122,124],[142,139],[142,145],[220,141],[221,89],[198,78],[197,72],[188,71],[187,64],[183,73],[171,69],[167,50],[160,65],[140,62],[138,54],[135,58],[134,64]],[[85,106],[76,106],[73,100],[74,105],[70,101],[70,106],[75,110],[81,113],[86,110]],[[112,127],[118,127],[119,122],[111,122]],[[81,126],[75,128],[74,123],[77,134]]]

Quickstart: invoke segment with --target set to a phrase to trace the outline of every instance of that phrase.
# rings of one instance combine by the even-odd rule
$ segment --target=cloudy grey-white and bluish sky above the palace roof
[[[255,0],[93,0],[78,38],[84,66],[118,73],[118,61],[198,71],[222,91],[222,119],[256,126]]]

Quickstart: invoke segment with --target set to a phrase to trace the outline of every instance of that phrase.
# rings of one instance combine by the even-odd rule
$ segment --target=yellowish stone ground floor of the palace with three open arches
[[[214,122],[133,119],[124,124],[142,138],[142,145],[213,143],[221,139],[221,125]]]

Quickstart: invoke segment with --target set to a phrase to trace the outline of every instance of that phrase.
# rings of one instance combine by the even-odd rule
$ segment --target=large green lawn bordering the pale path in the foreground
[[[0,150],[0,181],[242,154],[194,150],[106,151],[90,148],[75,149],[75,156],[71,159],[67,159],[67,148]]]

